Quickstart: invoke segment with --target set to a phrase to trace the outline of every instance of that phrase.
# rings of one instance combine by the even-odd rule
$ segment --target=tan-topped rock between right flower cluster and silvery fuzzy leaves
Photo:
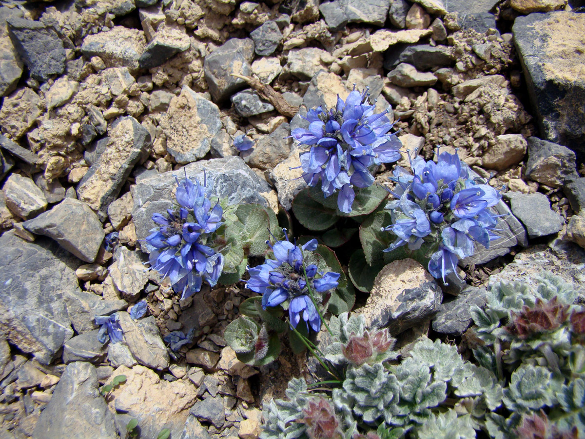
[[[357,312],[367,327],[388,327],[395,335],[432,317],[442,299],[425,267],[413,259],[395,260],[378,273],[366,305]]]

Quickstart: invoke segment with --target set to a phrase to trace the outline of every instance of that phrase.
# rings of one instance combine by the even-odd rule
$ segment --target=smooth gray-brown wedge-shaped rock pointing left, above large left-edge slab
[[[87,204],[73,198],[66,198],[50,211],[29,219],[23,227],[34,234],[49,236],[85,262],[95,261],[105,236],[97,215]]]

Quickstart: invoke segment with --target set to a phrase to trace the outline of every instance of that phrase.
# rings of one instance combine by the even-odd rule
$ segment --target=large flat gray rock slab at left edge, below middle
[[[49,364],[73,336],[63,297],[79,291],[77,259],[50,239],[0,236],[0,328],[21,351]]]

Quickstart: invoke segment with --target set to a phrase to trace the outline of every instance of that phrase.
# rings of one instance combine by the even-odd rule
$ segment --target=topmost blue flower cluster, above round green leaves
[[[349,213],[355,198],[353,187],[374,183],[371,167],[400,159],[401,142],[393,134],[387,111],[374,114],[363,94],[353,90],[345,102],[337,97],[335,109],[318,107],[304,117],[309,128],[295,128],[292,138],[311,148],[301,153],[302,177],[311,187],[321,179],[325,197],[339,191],[338,208]]]

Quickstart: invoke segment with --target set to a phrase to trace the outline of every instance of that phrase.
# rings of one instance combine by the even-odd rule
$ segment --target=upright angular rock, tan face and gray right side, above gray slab
[[[159,124],[167,135],[167,150],[178,163],[202,159],[222,128],[217,105],[187,85],[180,95],[171,99]]]

